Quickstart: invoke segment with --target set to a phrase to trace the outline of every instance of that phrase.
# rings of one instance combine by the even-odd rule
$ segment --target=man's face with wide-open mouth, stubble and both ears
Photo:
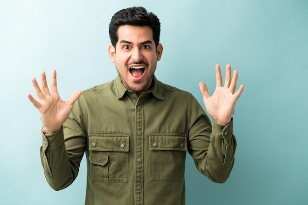
[[[150,26],[120,26],[118,39],[116,48],[108,48],[110,59],[116,64],[123,85],[140,96],[151,88],[162,46],[155,48]]]

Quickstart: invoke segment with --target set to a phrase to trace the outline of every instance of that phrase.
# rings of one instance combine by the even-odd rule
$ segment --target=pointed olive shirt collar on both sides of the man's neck
[[[123,85],[121,77],[119,75],[115,79],[115,90],[117,99],[121,99],[127,91],[127,88],[125,88],[125,86]],[[155,98],[160,100],[164,99],[162,96],[160,82],[157,80],[155,75],[153,75],[152,88],[149,91],[153,93]]]

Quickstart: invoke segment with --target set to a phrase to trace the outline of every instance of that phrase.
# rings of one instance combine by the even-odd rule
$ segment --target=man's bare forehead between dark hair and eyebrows
[[[145,41],[154,43],[152,28],[150,26],[120,26],[118,28],[118,42],[121,41],[128,41],[133,44]]]

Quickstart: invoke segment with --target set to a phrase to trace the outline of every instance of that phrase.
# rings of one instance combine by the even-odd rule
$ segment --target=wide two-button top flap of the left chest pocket
[[[90,151],[128,152],[129,135],[125,134],[90,134]]]

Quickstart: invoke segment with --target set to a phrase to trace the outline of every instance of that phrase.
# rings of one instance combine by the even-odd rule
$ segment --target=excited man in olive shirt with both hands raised
[[[201,93],[213,125],[189,93],[156,79],[163,51],[160,23],[143,7],[117,12],[109,33],[108,52],[119,73],[115,80],[60,99],[56,71],[51,92],[45,73],[41,101],[28,94],[43,121],[41,159],[46,179],[55,190],[77,177],[87,156],[87,205],[184,205],[185,155],[212,181],[223,183],[234,164],[236,140],[232,115],[237,99],[237,72],[227,65],[222,86],[216,66],[216,90]]]

